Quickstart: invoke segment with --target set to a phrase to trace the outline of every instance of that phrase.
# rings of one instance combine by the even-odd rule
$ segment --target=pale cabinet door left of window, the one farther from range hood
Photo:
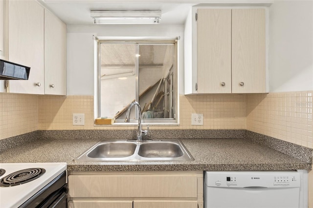
[[[45,94],[66,95],[66,24],[45,10]]]

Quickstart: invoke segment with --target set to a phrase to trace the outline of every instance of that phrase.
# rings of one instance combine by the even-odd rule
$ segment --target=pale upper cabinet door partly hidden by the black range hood
[[[28,80],[10,81],[10,92],[44,94],[44,8],[34,0],[8,3],[9,61],[30,67]]]

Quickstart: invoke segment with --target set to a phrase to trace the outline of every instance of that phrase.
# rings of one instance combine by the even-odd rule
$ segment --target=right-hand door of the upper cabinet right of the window
[[[266,92],[265,9],[232,10],[232,92]]]

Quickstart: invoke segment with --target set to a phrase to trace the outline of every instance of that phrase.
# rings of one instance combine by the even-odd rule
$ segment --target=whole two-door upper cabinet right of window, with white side
[[[193,7],[185,25],[185,94],[268,92],[265,8]]]

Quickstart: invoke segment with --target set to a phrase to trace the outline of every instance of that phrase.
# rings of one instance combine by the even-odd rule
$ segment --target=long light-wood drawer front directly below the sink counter
[[[196,175],[70,175],[69,197],[197,198]]]

